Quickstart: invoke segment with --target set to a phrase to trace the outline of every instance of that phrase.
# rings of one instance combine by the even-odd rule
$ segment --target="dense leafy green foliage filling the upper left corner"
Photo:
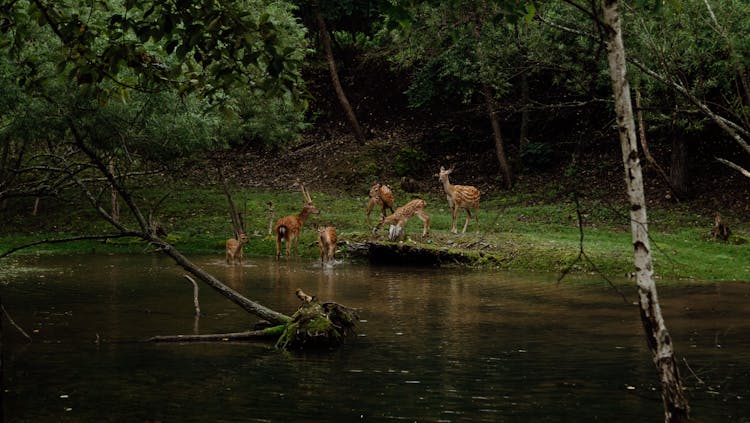
[[[306,127],[308,48],[289,3],[20,0],[2,12],[0,198],[93,193],[106,166],[124,182]]]

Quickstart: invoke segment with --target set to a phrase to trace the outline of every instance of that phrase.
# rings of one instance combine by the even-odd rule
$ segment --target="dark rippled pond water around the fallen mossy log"
[[[296,288],[360,310],[329,353],[263,343],[151,344],[257,319],[160,256],[4,261],[6,422],[663,421],[634,284],[594,277],[192,257],[294,312]],[[750,420],[750,283],[660,282],[692,417]],[[689,368],[688,368],[689,366]]]

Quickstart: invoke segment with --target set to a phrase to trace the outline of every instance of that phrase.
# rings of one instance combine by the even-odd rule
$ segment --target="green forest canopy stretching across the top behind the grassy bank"
[[[593,24],[599,7],[5,1],[0,198],[69,185],[82,171],[67,156],[76,138],[124,175],[194,152],[284,146],[321,120],[343,121],[321,101],[334,91],[321,77],[321,28],[341,94],[354,99],[354,124],[381,125],[376,109],[405,97],[406,113],[439,114],[464,134],[492,139],[495,171],[511,187],[517,173],[611,136],[602,126],[613,115],[604,38]],[[715,157],[747,172],[748,8],[740,0],[624,3],[637,107],[649,144],[669,152],[662,160],[677,196],[690,195],[696,162]],[[368,69],[391,77],[373,79]],[[393,86],[378,85],[386,80]],[[356,94],[368,90],[384,98]],[[431,149],[420,142],[414,157]]]

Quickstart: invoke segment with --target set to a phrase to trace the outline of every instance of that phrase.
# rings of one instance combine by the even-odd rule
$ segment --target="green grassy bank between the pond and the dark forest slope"
[[[372,239],[365,220],[366,189],[358,195],[312,192],[321,214],[313,216],[303,229],[300,253],[317,257],[313,224],[335,224],[341,241]],[[361,192],[361,194],[360,194]],[[149,210],[169,194],[154,215],[169,233],[168,240],[187,254],[223,256],[224,242],[231,236],[227,201],[215,186],[195,187],[187,183],[144,187],[139,197]],[[396,192],[397,204],[410,195]],[[421,222],[412,219],[407,225],[406,242],[428,249],[463,254],[476,266],[559,272],[575,263],[574,271],[598,269],[609,276],[632,271],[632,248],[628,216],[623,205],[582,201],[584,218],[583,248],[590,259],[576,262],[581,233],[574,203],[545,201],[519,195],[487,195],[480,209],[479,227],[472,222],[465,235],[451,235],[450,212],[443,195],[421,195],[428,202],[431,233],[422,239]],[[268,192],[239,190],[234,200],[245,217],[250,243],[246,256],[268,256],[275,253],[273,237],[268,234],[268,202],[273,202],[276,218],[298,213],[301,195],[297,191]],[[80,234],[110,233],[83,199],[43,200],[40,211],[31,216],[32,201],[14,202],[3,211],[5,224],[0,230],[0,249],[46,238],[63,238]],[[124,214],[124,213],[123,213]],[[729,221],[738,236],[735,242],[712,239],[713,216],[685,210],[650,210],[650,231],[656,273],[665,278],[696,280],[750,281],[750,244],[743,243],[750,234],[747,222]],[[377,212],[372,214],[373,222]],[[463,219],[463,216],[461,217]],[[124,218],[125,222],[128,222]],[[460,223],[463,221],[461,220]],[[130,222],[128,222],[130,223]],[[382,239],[386,230],[380,230]],[[345,252],[346,247],[342,246]],[[47,244],[23,250],[28,253],[142,253],[149,247],[135,239],[85,241]]]

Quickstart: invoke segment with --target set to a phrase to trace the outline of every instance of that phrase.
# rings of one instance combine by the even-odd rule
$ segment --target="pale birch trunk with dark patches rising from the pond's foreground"
[[[638,144],[625,65],[619,2],[603,0],[607,36],[607,56],[620,134],[625,181],[630,199],[631,231],[641,322],[662,386],[665,422],[689,421],[689,406],[683,395],[680,372],[672,349],[672,339],[664,323],[654,281],[653,261],[648,238],[646,197],[638,159]]]

